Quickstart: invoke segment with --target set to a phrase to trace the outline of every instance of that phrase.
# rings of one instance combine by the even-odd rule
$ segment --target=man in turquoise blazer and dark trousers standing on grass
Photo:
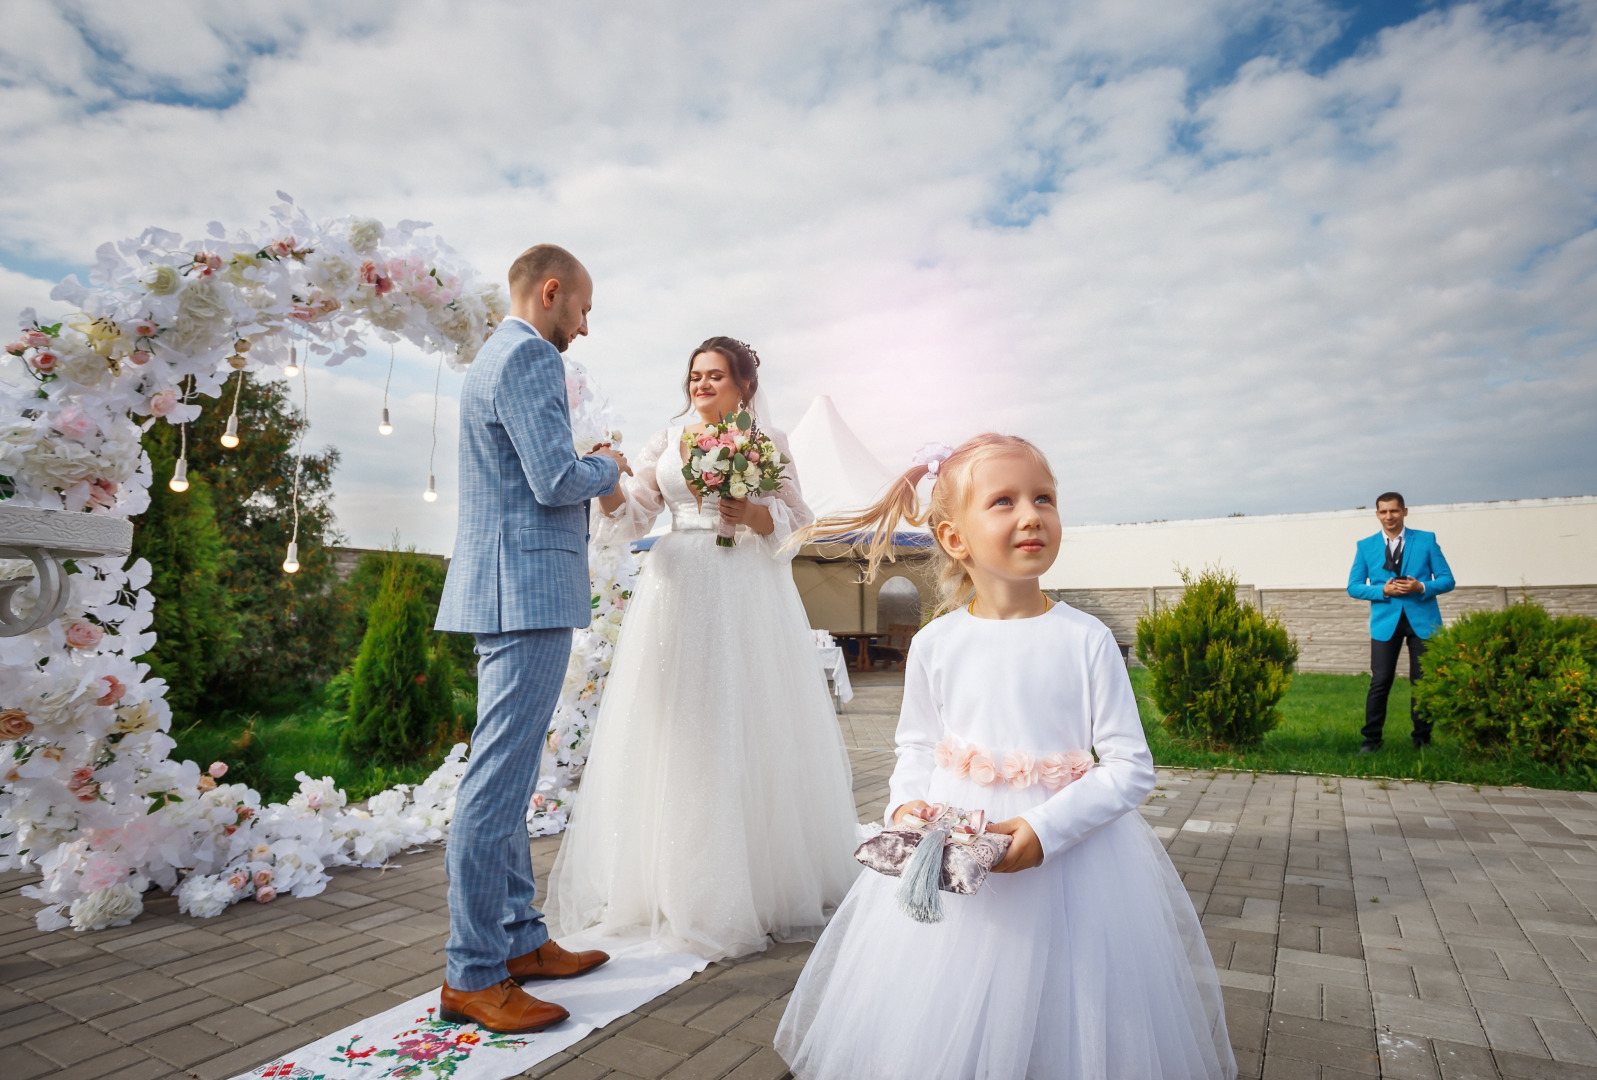
[[[1453,570],[1436,545],[1434,532],[1404,527],[1409,506],[1394,490],[1375,500],[1381,530],[1359,540],[1348,574],[1348,596],[1370,602],[1370,693],[1364,701],[1361,754],[1381,748],[1386,697],[1397,676],[1397,653],[1409,642],[1409,681],[1420,681],[1425,641],[1442,628],[1436,598],[1453,590]],[[1409,701],[1413,744],[1431,744],[1431,722]]]

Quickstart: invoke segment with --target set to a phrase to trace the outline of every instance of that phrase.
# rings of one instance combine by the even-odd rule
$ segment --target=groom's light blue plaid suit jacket
[[[607,457],[577,457],[559,350],[506,321],[460,390],[460,519],[436,629],[586,626],[588,500],[615,489]]]

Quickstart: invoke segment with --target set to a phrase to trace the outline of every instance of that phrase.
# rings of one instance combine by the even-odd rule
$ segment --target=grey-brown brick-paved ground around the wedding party
[[[866,820],[898,682],[862,677],[840,717]],[[1597,1077],[1597,794],[1161,770],[1142,813],[1203,914],[1244,1077]],[[535,842],[540,874],[557,845]],[[225,1080],[442,971],[438,850],[209,920],[152,893],[96,935],[34,930],[27,880],[0,877],[5,1080]],[[778,1080],[806,955],[712,965],[525,1075]]]

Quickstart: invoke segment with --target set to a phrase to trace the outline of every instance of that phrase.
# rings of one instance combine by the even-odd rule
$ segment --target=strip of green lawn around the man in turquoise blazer
[[[1410,741],[1409,681],[1397,679],[1386,703],[1385,746],[1375,754],[1359,754],[1364,741],[1364,695],[1370,677],[1302,673],[1281,700],[1281,725],[1255,749],[1211,751],[1171,735],[1163,714],[1150,697],[1147,668],[1132,668],[1131,684],[1142,711],[1153,760],[1188,768],[1236,768],[1244,772],[1329,773],[1335,776],[1389,776],[1394,780],[1453,781],[1463,784],[1597,789],[1597,772],[1563,772],[1540,762],[1508,756],[1477,757],[1436,732],[1431,746],[1415,749]]]

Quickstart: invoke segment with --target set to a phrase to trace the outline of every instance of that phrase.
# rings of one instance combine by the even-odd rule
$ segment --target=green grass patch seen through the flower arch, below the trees
[[[394,784],[422,783],[442,760],[442,754],[436,760],[398,767],[350,760],[339,752],[342,729],[342,709],[326,701],[206,719],[172,732],[177,740],[172,757],[192,759],[201,770],[214,760],[227,762],[227,783],[249,784],[260,792],[262,802],[284,802],[299,791],[297,772],[332,776],[355,802]]]

